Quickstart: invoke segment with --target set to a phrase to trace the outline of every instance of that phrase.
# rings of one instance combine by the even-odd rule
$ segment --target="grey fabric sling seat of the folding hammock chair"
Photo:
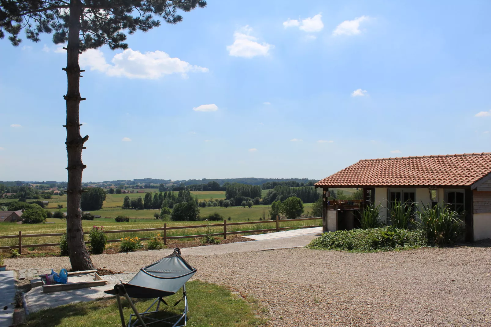
[[[176,249],[171,255],[141,268],[132,280],[123,285],[131,298],[162,298],[175,294],[194,273],[196,269]],[[114,295],[116,291],[111,289],[105,293]]]

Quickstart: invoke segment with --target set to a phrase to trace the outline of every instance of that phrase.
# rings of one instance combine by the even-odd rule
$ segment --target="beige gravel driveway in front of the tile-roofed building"
[[[136,271],[162,252],[93,256]],[[186,256],[196,278],[232,286],[269,309],[269,326],[491,326],[491,248],[347,253],[307,248]],[[9,268],[66,258],[9,260]],[[18,266],[18,267],[16,267]]]

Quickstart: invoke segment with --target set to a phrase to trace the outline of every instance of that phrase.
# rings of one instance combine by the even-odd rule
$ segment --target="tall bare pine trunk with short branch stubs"
[[[92,260],[83,243],[82,211],[82,163],[83,143],[88,136],[80,136],[79,106],[80,106],[80,16],[82,3],[80,0],[70,1],[70,17],[67,45],[66,71],[68,89],[66,96],[66,150],[68,154],[68,188],[66,206],[66,235],[70,263],[74,271],[94,269]]]

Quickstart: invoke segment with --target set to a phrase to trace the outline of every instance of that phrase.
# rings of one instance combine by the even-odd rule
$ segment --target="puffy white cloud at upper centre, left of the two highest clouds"
[[[234,43],[227,46],[228,54],[236,57],[252,58],[256,55],[268,55],[273,45],[256,42],[257,38],[249,35],[252,28],[242,27],[234,33]]]

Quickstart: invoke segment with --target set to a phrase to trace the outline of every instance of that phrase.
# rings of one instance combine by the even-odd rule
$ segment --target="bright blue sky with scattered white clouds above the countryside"
[[[290,2],[290,3],[289,3]],[[210,0],[81,57],[84,181],[491,151],[489,1]],[[66,180],[66,53],[0,40],[0,180]]]

